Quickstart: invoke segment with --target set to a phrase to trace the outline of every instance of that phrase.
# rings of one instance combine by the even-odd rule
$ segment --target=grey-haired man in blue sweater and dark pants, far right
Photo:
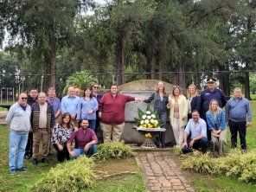
[[[248,99],[242,98],[239,87],[234,89],[234,99],[229,99],[226,106],[226,122],[231,132],[232,147],[237,146],[237,131],[240,135],[242,150],[246,150],[246,127],[251,125],[252,109]]]

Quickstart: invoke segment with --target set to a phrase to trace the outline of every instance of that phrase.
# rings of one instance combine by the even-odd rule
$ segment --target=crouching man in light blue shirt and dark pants
[[[184,131],[184,143],[182,144],[182,152],[192,152],[192,149],[202,148],[202,153],[208,150],[207,126],[206,122],[200,118],[199,112],[192,112],[192,118]]]

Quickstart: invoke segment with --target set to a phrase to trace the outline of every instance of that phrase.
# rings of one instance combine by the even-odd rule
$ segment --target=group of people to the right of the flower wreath
[[[240,134],[240,147],[246,150],[246,127],[251,125],[252,110],[249,101],[242,97],[239,87],[234,89],[234,98],[226,100],[224,93],[215,88],[215,79],[208,78],[208,88],[199,95],[196,86],[188,87],[187,98],[179,86],[174,86],[169,96],[163,82],[157,83],[157,91],[144,102],[154,99],[154,109],[166,125],[168,109],[170,110],[170,125],[176,141],[176,147],[183,153],[193,149],[208,151],[212,144],[214,154],[221,157],[227,143],[227,125],[230,127],[232,147],[237,146],[237,132]],[[223,107],[226,106],[226,112]],[[157,138],[157,147],[165,147],[162,132]]]

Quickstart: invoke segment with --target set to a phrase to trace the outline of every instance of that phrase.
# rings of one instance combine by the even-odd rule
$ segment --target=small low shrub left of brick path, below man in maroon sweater
[[[97,152],[93,158],[98,161],[106,161],[111,158],[134,157],[135,153],[129,145],[124,142],[111,142],[109,144],[99,144]]]

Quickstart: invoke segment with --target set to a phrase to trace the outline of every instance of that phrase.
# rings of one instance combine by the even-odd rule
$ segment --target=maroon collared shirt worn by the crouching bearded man
[[[77,132],[73,132],[71,137],[67,140],[67,144],[71,144],[73,140],[75,141],[75,149],[84,149],[86,144],[93,140],[98,143],[95,132],[90,128],[87,128],[85,133],[82,128],[79,128]]]

